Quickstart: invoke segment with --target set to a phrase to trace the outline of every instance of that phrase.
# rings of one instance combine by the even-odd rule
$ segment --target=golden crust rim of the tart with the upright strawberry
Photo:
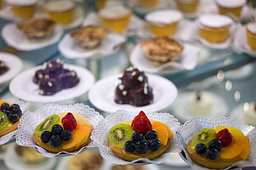
[[[167,141],[167,145],[166,146],[161,145],[161,148],[158,149],[157,151],[139,154],[139,153],[126,152],[122,148],[117,147],[116,145],[113,145],[109,141],[109,147],[112,149],[112,151],[114,153],[116,153],[116,155],[119,156],[120,158],[122,158],[123,160],[128,160],[128,161],[136,160],[138,158],[147,158],[149,160],[153,160],[153,159],[157,158],[158,156],[161,156],[161,154],[166,151],[166,149],[169,147],[169,145],[170,145],[170,138]]]

